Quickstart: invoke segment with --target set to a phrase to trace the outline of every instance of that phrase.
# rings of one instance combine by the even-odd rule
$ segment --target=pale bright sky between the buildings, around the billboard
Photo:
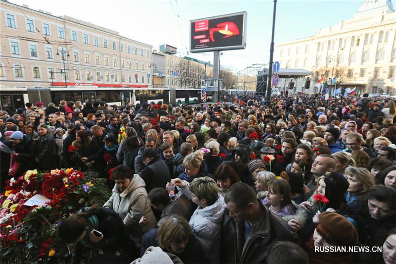
[[[269,61],[273,0],[9,0],[43,9],[53,15],[68,15],[141,41],[159,50],[159,45],[177,47],[187,55],[189,21],[203,17],[247,11],[247,48],[225,51],[222,66],[241,70]],[[278,0],[275,45],[310,36],[318,28],[336,25],[353,17],[364,0]],[[192,54],[204,61],[213,53]],[[282,65],[281,65],[282,67]]]

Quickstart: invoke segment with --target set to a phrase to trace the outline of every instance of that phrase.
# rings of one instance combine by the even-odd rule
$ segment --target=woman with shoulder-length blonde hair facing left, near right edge
[[[345,174],[349,183],[346,195],[348,205],[366,195],[375,184],[374,177],[366,168],[349,166],[345,169]]]

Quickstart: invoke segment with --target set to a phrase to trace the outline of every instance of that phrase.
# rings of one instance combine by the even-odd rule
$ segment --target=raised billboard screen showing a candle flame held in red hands
[[[246,12],[190,21],[190,52],[240,50],[246,47]]]

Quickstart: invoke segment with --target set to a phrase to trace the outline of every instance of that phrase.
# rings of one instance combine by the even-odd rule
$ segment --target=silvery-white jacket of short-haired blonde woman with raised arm
[[[189,189],[189,183],[184,182],[187,184],[186,187],[178,187],[178,190],[191,199],[192,193]],[[191,227],[193,227],[194,235],[210,263],[220,262],[221,222],[225,207],[224,198],[218,195],[213,205],[205,208],[198,207],[189,221]]]

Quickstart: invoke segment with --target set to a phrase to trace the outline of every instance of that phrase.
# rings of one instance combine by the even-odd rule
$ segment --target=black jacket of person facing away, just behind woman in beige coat
[[[146,190],[149,193],[153,188],[164,188],[167,182],[170,182],[168,166],[162,159],[157,159],[149,163],[139,175],[146,182]]]

